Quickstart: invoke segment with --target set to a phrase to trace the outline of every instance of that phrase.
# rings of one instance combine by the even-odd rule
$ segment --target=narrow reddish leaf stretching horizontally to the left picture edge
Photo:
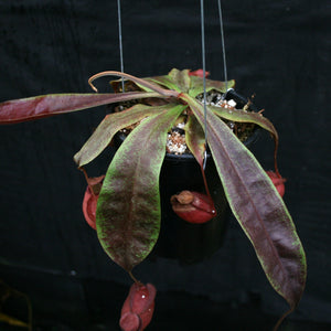
[[[0,124],[17,124],[43,117],[77,111],[111,103],[162,97],[156,92],[118,94],[49,94],[0,104]]]

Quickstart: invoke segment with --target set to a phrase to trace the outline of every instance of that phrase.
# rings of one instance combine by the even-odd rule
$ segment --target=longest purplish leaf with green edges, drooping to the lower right
[[[190,96],[182,98],[202,124],[203,106]],[[271,286],[293,309],[303,292],[307,266],[291,216],[253,153],[207,110],[209,146],[231,209]]]

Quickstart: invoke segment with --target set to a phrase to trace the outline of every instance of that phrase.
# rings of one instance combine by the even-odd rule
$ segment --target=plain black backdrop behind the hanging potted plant
[[[206,67],[223,79],[217,1],[205,2]],[[223,2],[228,77],[242,94],[256,94],[278,129],[285,201],[307,253],[307,289],[289,320],[331,323],[330,3]],[[126,0],[121,10],[125,72],[202,66],[199,1]],[[90,75],[120,70],[117,26],[115,0],[0,1],[0,100],[89,92]],[[106,83],[98,83],[102,90]],[[106,330],[103,319],[117,330],[131,282],[84,222],[85,181],[72,159],[104,116],[96,108],[0,127],[0,278],[28,292],[40,323],[50,317],[50,325],[62,324],[56,330]],[[254,151],[269,169],[273,142],[264,138]],[[108,162],[104,154],[90,174]],[[159,290],[151,330],[269,330],[273,316],[287,309],[234,220],[224,247],[204,263],[160,258],[135,271]],[[241,319],[246,327],[234,327]]]

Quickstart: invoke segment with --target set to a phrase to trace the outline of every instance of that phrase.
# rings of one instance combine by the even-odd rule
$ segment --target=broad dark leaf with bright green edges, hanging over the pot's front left
[[[109,257],[130,271],[146,258],[160,232],[159,175],[167,132],[186,106],[145,119],[118,149],[98,199],[96,226]]]

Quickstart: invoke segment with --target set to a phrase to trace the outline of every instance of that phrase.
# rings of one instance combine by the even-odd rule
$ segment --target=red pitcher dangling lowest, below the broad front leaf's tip
[[[142,331],[154,311],[157,289],[151,284],[135,282],[124,302],[119,325],[124,331]]]

